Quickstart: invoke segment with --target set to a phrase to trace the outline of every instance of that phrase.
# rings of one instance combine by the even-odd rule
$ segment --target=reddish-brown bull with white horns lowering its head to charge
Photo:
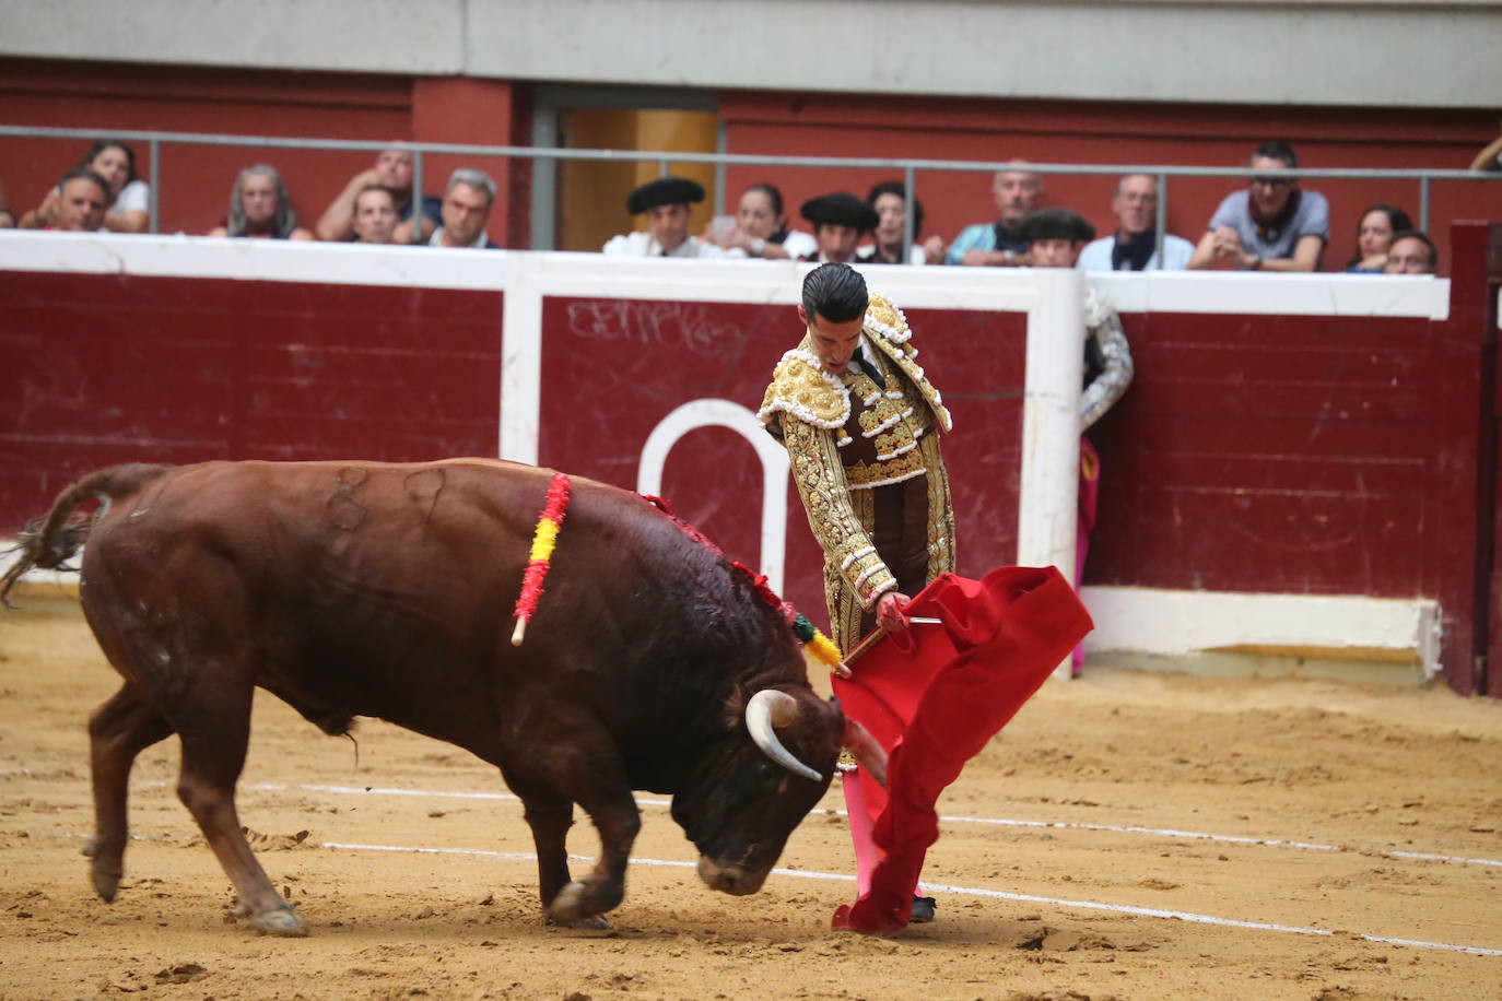
[[[574,480],[526,642],[512,608],[550,474],[484,459],[123,465],[69,486],[23,536],[0,597],[87,530],[83,606],[125,678],[89,722],[92,876],[123,872],[135,756],[177,734],[177,794],[251,923],[302,935],[240,831],[234,786],[263,687],[326,734],[374,716],[452,741],[521,798],[551,920],[620,903],[641,825],[673,794],[698,873],[754,893],[829,783],[846,720],[807,683],[784,615],[643,498]],[[855,731],[852,731],[855,732]],[[853,737],[852,737],[853,740]],[[574,804],[599,861],[574,881]]]

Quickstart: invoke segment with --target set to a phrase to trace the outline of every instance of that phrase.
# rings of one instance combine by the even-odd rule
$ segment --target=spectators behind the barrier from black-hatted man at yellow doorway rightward
[[[605,254],[632,257],[762,257],[813,263],[859,264],[955,264],[969,267],[1057,266],[1057,248],[1048,261],[1036,260],[1027,239],[1029,221],[1044,212],[1041,176],[1014,161],[991,183],[997,218],[966,227],[945,246],[937,234],[924,233],[924,209],[913,207],[913,242],[904,261],[907,192],[903,182],[882,182],[867,197],[844,191],[804,203],[799,215],[811,234],[789,230],[783,194],[769,183],[740,195],[734,218],[710,222],[700,237],[691,237],[692,206],[704,200],[701,185],[683,177],[659,177],[626,198],[629,215],[646,215],[647,230],[613,237]],[[1119,270],[1211,270],[1316,272],[1329,243],[1329,203],[1305,189],[1298,177],[1298,155],[1287,143],[1271,140],[1251,155],[1251,177],[1245,189],[1233,191],[1211,216],[1203,236],[1190,242],[1172,233],[1157,233],[1158,182],[1151,174],[1128,174],[1116,185],[1111,215],[1116,230],[1092,236],[1069,249],[1069,267],[1087,272]],[[1077,213],[1071,213],[1084,222]],[[1087,224],[1086,224],[1087,225]],[[1371,206],[1358,228],[1359,254],[1349,273],[1400,272],[1407,266],[1389,258],[1397,237],[1410,237],[1412,221],[1394,206]],[[1422,236],[1422,234],[1419,234]],[[1424,237],[1427,273],[1437,255]],[[1412,272],[1407,272],[1412,273]]]

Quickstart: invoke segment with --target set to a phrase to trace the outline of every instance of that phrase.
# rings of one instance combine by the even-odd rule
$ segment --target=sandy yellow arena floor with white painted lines
[[[242,821],[314,929],[263,938],[141,755],[110,906],[84,720],[116,689],[77,606],[0,614],[0,998],[1497,998],[1502,702],[1308,680],[1051,683],[940,803],[939,921],[829,930],[837,792],[753,897],[704,888],[644,800],[610,932],[545,927],[488,767],[380,722],[323,737],[261,693]],[[595,851],[575,828],[571,848]],[[421,854],[427,852],[427,854]]]

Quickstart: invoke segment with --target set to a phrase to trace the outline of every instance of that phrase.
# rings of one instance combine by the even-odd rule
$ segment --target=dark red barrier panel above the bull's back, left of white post
[[[496,455],[500,293],[0,270],[0,534],[114,462]]]

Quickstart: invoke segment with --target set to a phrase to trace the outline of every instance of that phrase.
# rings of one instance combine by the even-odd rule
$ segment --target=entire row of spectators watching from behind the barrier
[[[1496,149],[1493,149],[1496,147]],[[1482,150],[1473,170],[1502,170],[1502,140]],[[1114,231],[1099,239],[1069,240],[1071,267],[1086,272],[1208,270],[1316,272],[1329,243],[1329,203],[1287,171],[1298,155],[1269,140],[1250,158],[1244,189],[1220,203],[1197,240],[1157,231],[1158,182],[1128,174],[1111,197]],[[413,191],[413,156],[382,150],[376,162],[344,185],[312,230],[297,222],[287,185],[269,164],[239,173],[228,210],[207,231],[218,237],[326,240],[354,243],[418,243],[488,249],[487,234],[496,203],[496,182],[485,171],[463,167],[443,195]],[[715,216],[703,233],[689,233],[692,206],[704,189],[683,177],[659,177],[626,197],[626,213],[644,216],[646,230],[623,233],[602,248],[610,255],[763,258],[858,264],[951,264],[967,267],[1056,267],[1059,248],[1038,257],[1029,221],[1045,212],[1044,179],[1026,161],[1011,161],[993,177],[996,218],[964,227],[948,245],[925,233],[922,203],[909,203],[900,180],[874,185],[865,198],[837,191],[810,198],[799,209],[808,230],[792,228],[775,185],[757,183],[740,194],[733,216]],[[125,143],[96,141],[42,198],[17,219],[0,191],[0,227],[143,233],[152,189],[137,174],[135,153]],[[912,243],[907,212],[912,206]],[[1083,218],[1071,213],[1084,224]],[[1057,219],[1054,219],[1057,224]],[[1089,225],[1089,224],[1084,224]],[[904,245],[907,246],[904,254]],[[1356,254],[1347,273],[1433,273],[1437,251],[1400,207],[1374,204],[1358,222]]]

